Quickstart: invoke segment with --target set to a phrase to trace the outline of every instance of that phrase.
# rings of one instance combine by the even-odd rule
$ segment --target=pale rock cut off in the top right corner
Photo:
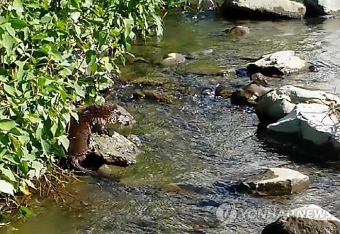
[[[306,16],[316,17],[340,11],[339,0],[304,0]]]

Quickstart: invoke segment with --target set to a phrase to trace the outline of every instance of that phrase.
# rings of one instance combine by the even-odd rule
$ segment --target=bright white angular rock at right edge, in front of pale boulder
[[[268,126],[282,133],[299,133],[304,140],[316,145],[327,142],[340,145],[339,119],[323,104],[298,104],[285,117]]]

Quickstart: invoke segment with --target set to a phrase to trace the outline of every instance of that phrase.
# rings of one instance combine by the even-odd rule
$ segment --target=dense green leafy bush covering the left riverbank
[[[98,92],[136,35],[162,34],[164,7],[163,0],[2,1],[0,192],[27,193],[65,157],[72,105],[103,101]]]

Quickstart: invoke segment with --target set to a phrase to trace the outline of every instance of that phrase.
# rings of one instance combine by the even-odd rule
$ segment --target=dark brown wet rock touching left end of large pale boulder
[[[242,90],[236,90],[230,96],[232,104],[235,105],[256,105],[258,100],[271,89],[251,83]]]

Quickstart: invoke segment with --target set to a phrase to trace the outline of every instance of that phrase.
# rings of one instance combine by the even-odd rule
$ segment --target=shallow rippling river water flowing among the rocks
[[[234,24],[251,28],[247,36],[220,32]],[[188,54],[214,49],[215,54],[171,68],[181,77],[164,74],[163,68],[135,63],[123,69],[125,79],[150,77],[194,86],[221,83],[237,87],[246,78],[209,77],[193,72],[215,72],[242,67],[235,55],[258,57],[279,50],[295,50],[316,64],[318,73],[299,74],[277,81],[339,93],[340,19],[238,21],[208,16],[195,19],[187,14],[167,16],[162,38],[150,38],[133,46],[133,52],[150,61],[178,52]],[[168,72],[169,73],[169,72]],[[121,103],[137,125],[129,130],[144,146],[120,182],[88,180],[71,190],[91,204],[69,211],[65,206],[42,201],[34,216],[19,219],[0,230],[4,234],[113,234],[113,233],[260,233],[275,220],[278,211],[316,204],[340,217],[339,171],[317,163],[299,162],[294,154],[278,151],[256,137],[258,124],[250,108],[232,106],[211,96],[183,97],[175,105],[148,101]],[[310,177],[306,192],[292,196],[259,198],[237,191],[236,185],[256,170],[284,165]],[[179,192],[165,184],[186,184]],[[160,189],[160,187],[163,188]],[[167,190],[167,191],[165,191]],[[234,206],[237,216],[220,222],[216,210]],[[272,213],[255,216],[258,210]],[[242,212],[253,211],[243,217]],[[276,213],[275,213],[276,212]],[[272,216],[270,216],[272,215]]]

